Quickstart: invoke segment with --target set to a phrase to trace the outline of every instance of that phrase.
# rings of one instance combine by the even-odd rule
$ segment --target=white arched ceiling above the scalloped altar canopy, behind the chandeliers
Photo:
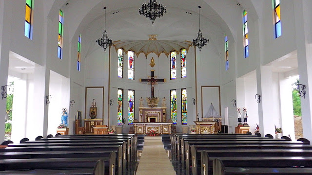
[[[104,29],[104,6],[107,6],[106,30],[113,41],[148,39],[150,34],[158,35],[157,39],[192,41],[198,32],[198,5],[200,5],[201,30],[203,35],[210,39],[210,43],[215,44],[220,40],[214,38],[216,33],[226,33],[235,41],[237,32],[242,28],[243,5],[251,9],[249,16],[254,18],[258,16],[253,3],[247,0],[160,1],[167,7],[167,13],[164,17],[157,18],[154,26],[148,18],[138,14],[138,9],[145,2],[142,0],[54,0],[53,4],[49,4],[51,10],[48,15],[50,17],[51,14],[58,15],[54,10],[61,8],[69,40],[75,42],[76,36],[81,33],[87,34],[91,43],[101,36]],[[238,6],[238,2],[243,5]]]

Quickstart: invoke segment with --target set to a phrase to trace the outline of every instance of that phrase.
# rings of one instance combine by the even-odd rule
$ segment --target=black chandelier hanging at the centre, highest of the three
[[[138,10],[138,13],[140,15],[144,15],[146,18],[150,18],[152,21],[152,24],[154,24],[154,21],[157,17],[164,16],[164,13],[167,13],[166,6],[164,6],[160,2],[157,4],[156,0],[150,0],[148,4],[143,3],[142,7]]]

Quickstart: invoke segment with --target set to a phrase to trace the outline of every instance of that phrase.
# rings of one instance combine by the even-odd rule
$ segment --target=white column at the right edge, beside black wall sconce
[[[306,85],[306,96],[301,97],[303,137],[312,140],[312,46],[311,46],[311,0],[294,3],[296,44],[300,84]]]

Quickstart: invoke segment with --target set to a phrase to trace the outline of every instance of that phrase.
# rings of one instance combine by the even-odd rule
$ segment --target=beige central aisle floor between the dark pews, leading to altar
[[[136,175],[176,175],[161,136],[145,136]]]

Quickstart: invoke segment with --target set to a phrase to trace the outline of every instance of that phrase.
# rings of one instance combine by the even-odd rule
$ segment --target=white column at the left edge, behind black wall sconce
[[[0,0],[0,86],[6,85],[8,79],[11,10],[11,2],[9,0]],[[5,112],[6,99],[4,98],[0,99],[0,143],[4,141]]]

